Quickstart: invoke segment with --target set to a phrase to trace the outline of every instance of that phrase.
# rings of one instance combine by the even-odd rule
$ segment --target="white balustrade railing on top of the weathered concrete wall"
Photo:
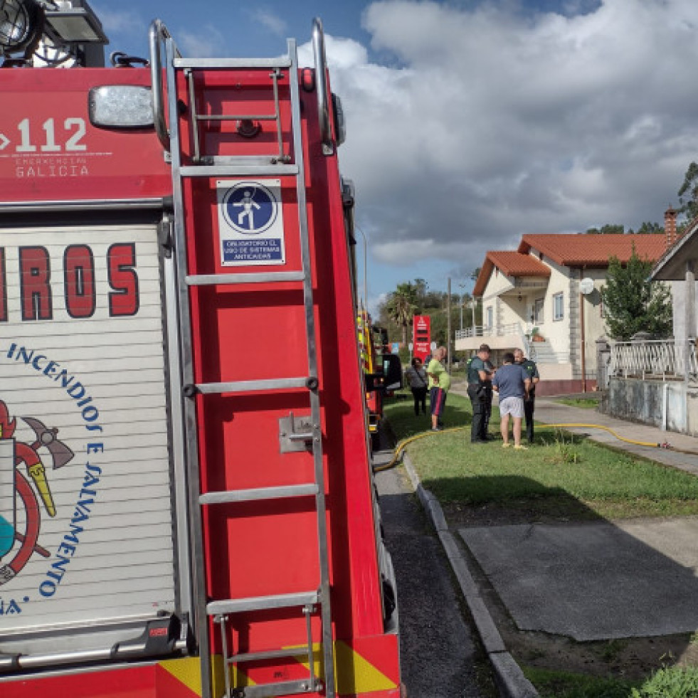
[[[696,379],[698,361],[696,342],[687,339],[657,339],[643,342],[612,342],[610,344],[610,376],[638,378]]]

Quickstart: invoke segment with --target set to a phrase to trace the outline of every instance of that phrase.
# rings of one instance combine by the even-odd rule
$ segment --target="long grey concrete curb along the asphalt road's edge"
[[[467,607],[470,610],[472,620],[475,621],[480,641],[483,647],[485,647],[487,657],[489,657],[492,669],[495,671],[495,680],[497,681],[499,694],[503,698],[539,698],[539,693],[533,684],[524,676],[524,672],[522,672],[517,662],[514,661],[514,657],[507,652],[502,635],[499,635],[495,621],[492,620],[490,611],[487,610],[487,606],[485,606],[485,602],[482,600],[482,596],[480,596],[480,591],[467,567],[467,562],[460,554],[458,543],[448,530],[446,517],[438,499],[422,486],[407,453],[403,455],[403,464],[407,470],[412,487],[419,497],[419,501],[436,529],[451,569],[453,569],[453,573],[458,579],[460,591],[465,597],[465,603],[467,603]]]

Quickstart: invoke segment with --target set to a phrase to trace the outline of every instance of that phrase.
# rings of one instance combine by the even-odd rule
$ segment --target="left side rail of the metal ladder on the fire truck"
[[[181,142],[179,132],[179,113],[177,105],[176,70],[174,62],[179,52],[171,37],[165,40],[167,95],[169,107],[170,134],[169,152],[172,168],[172,195],[174,204],[174,260],[176,269],[176,302],[179,307],[179,351],[181,354],[181,383],[194,384],[194,356],[191,339],[191,318],[189,314],[189,286],[186,283],[187,254],[186,230],[184,228],[184,194],[181,179]],[[189,490],[189,515],[192,556],[192,583],[194,586],[194,629],[199,645],[201,662],[201,693],[203,698],[212,696],[211,680],[211,645],[208,632],[208,614],[206,613],[206,566],[203,555],[203,530],[201,524],[201,507],[199,506],[199,444],[196,431],[196,403],[193,398],[184,398],[184,434],[187,486]]]

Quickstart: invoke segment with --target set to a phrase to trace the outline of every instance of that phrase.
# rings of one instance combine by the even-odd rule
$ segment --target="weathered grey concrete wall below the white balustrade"
[[[682,381],[611,378],[599,410],[628,421],[698,436],[698,388]]]

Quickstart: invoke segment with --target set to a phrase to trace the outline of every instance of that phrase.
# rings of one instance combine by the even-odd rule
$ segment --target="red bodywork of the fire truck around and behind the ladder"
[[[197,80],[199,111],[220,113],[243,108],[254,114],[270,110],[270,90],[259,71],[204,70]],[[289,82],[286,71],[279,82],[283,148],[305,163],[337,692],[346,697],[370,694],[396,698],[398,636],[395,630],[386,630],[386,580],[380,561],[383,549],[369,465],[365,393],[359,373],[356,307],[337,156],[322,151],[313,92],[301,92],[303,152],[293,152]],[[35,224],[33,213],[22,220],[23,206],[60,211],[65,205],[68,211],[71,202],[132,203],[173,194],[170,166],[152,129],[127,131],[90,125],[90,88],[110,84],[149,85],[150,73],[138,68],[0,71],[4,103],[0,112],[0,248],[9,244],[18,226]],[[188,164],[193,136],[184,82],[178,92],[183,104],[182,162]],[[255,139],[238,136],[233,123],[210,125],[202,142],[206,152],[223,156],[273,154],[278,147],[275,134],[264,124]],[[282,261],[270,265],[259,260],[248,265],[236,263],[234,272],[301,270],[295,178],[252,179],[253,184],[276,187],[279,192]],[[220,192],[234,184],[236,179],[212,177],[183,181],[189,274],[231,271],[221,255],[219,216]],[[6,211],[11,216],[4,219]],[[80,215],[76,214],[73,226],[80,225]],[[104,211],[100,216],[105,217],[106,225],[109,213]],[[50,228],[50,223],[44,224]],[[88,241],[90,234],[86,230]],[[136,270],[138,261],[134,261]],[[307,374],[305,309],[302,287],[296,282],[238,284],[234,288],[194,286],[189,302],[196,384]],[[169,366],[169,371],[176,370],[176,366]],[[310,413],[307,393],[289,389],[197,395],[201,492],[312,482],[312,453],[282,453],[279,436],[281,418]],[[96,502],[95,507],[99,506]],[[317,586],[317,516],[311,497],[225,504],[204,508],[202,516],[208,599],[268,596]],[[180,583],[189,581],[176,581]],[[0,599],[2,596],[0,586]],[[0,615],[0,653],[6,640],[3,620]],[[221,637],[218,625],[211,619],[208,623],[214,655],[213,695],[218,698],[223,694],[218,656]],[[313,638],[317,638],[314,643],[319,643],[317,615],[312,616],[311,625]],[[196,628],[193,630],[196,636]],[[305,643],[305,617],[287,610],[249,612],[231,619],[228,632],[228,642],[238,652],[265,650],[280,643],[295,647]],[[257,662],[238,670],[236,680],[249,685],[302,678],[303,672],[307,673],[304,662],[302,656],[285,662]],[[201,696],[201,685],[195,650],[192,656],[142,659],[135,665],[94,662],[87,667],[0,671],[4,698],[47,694],[178,698]]]

